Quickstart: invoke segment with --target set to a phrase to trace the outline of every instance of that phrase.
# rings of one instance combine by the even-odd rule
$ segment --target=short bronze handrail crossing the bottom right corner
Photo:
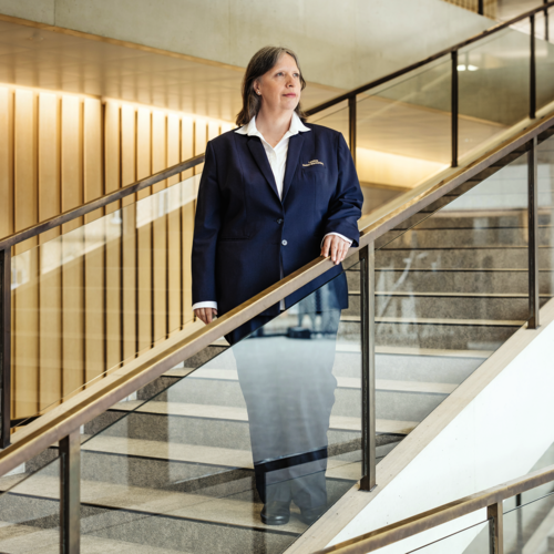
[[[478,510],[488,509],[488,519],[494,521],[496,527],[502,529],[502,502],[517,494],[535,489],[554,481],[554,465],[537,470],[522,478],[513,479],[506,483],[470,494],[463,499],[449,502],[421,514],[392,523],[384,527],[358,535],[353,538],[338,543],[315,554],[366,554],[379,548],[398,543],[404,538],[422,533],[430,529],[449,523]]]

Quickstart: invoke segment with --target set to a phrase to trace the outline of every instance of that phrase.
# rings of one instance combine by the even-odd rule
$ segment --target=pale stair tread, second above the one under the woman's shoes
[[[115,404],[119,410],[140,413],[156,413],[163,416],[182,416],[188,418],[217,419],[229,421],[248,421],[246,408],[233,406],[193,404],[185,402],[162,402],[130,400]],[[376,422],[378,433],[408,434],[418,422],[378,419]],[[361,431],[361,419],[347,416],[331,416],[331,430]]]

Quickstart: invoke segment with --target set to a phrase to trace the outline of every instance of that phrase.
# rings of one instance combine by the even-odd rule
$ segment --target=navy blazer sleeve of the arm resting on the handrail
[[[352,240],[352,246],[359,245],[360,232],[358,219],[361,217],[363,195],[356,173],[350,150],[345,137],[337,137],[338,179],[335,196],[327,212],[324,235],[335,233]]]

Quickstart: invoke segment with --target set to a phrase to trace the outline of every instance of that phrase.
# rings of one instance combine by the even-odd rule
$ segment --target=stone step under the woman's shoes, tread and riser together
[[[29,514],[41,501],[57,500],[60,484],[58,476],[44,475],[18,489],[11,503],[28,507]],[[218,499],[82,480],[81,530],[83,535],[178,552],[216,552],[222,541],[233,544],[233,552],[240,552],[240,545],[252,546],[254,541],[286,546],[306,530],[295,505],[288,524],[268,527],[259,519],[261,504],[244,496],[237,493]]]

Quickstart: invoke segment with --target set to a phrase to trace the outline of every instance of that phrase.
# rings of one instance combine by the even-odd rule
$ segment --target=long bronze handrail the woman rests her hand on
[[[470,164],[458,171],[435,186],[403,203],[400,207],[361,229],[359,246],[351,248],[347,258],[357,255],[368,245],[393,227],[425,208],[440,197],[464,184],[481,171],[490,167],[507,154],[519,150],[544,131],[554,127],[554,114],[534,122],[515,137],[496,146]],[[85,398],[75,396],[68,402],[54,408],[45,416],[33,421],[18,434],[17,442],[0,453],[0,475],[13,470],[21,463],[38,455],[51,444],[79,430],[79,428],[100,416],[116,402],[129,397],[141,387],[162,376],[182,361],[191,358],[222,336],[236,329],[267,308],[312,281],[334,267],[329,258],[319,257],[271,287],[237,306],[201,330],[166,348],[136,368],[119,370],[114,377],[107,376],[88,389]]]

